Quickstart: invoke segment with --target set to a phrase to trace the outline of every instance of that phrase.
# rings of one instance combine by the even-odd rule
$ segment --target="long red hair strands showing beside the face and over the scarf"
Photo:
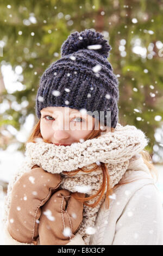
[[[39,121],[37,122],[37,124],[33,127],[33,131],[32,131],[32,133],[31,133],[31,135],[30,135],[30,137],[28,138],[28,140],[27,140],[26,143],[28,143],[28,142],[33,142],[33,143],[35,143],[35,142],[36,142],[36,138],[42,138],[41,131],[40,131],[40,120],[41,120],[41,119],[39,119]],[[92,130],[92,132],[89,134],[89,136],[87,136],[87,137],[85,138],[85,141],[86,141],[87,139],[98,138],[99,136],[101,136],[101,133],[102,133],[102,132],[108,132],[108,128],[106,128],[105,130],[101,130],[100,127],[101,127],[101,126],[100,126],[100,123],[98,123],[97,119],[95,119],[95,127],[94,127],[94,129]],[[109,131],[110,131],[110,132],[114,132],[114,130],[115,130],[114,128],[112,128],[112,127],[110,128],[110,127],[109,127]],[[42,139],[43,139],[43,138],[42,138]],[[46,141],[46,140],[44,140],[44,139],[43,139],[43,141],[49,143],[48,141]],[[25,143],[25,144],[26,144],[26,143]],[[157,173],[157,170],[155,169],[154,165],[152,164],[151,155],[150,155],[150,154],[148,153],[148,151],[146,151],[146,150],[141,151],[140,154],[142,155],[142,158],[143,158],[144,163],[147,165],[147,167],[149,168],[149,170],[151,170],[152,176],[153,176],[153,173],[155,173],[155,174],[156,174],[156,177],[157,177],[157,179],[158,179],[158,173]],[[62,173],[66,174],[66,175],[69,175],[69,176],[74,176],[74,175],[76,175],[76,174],[77,174],[78,172],[80,172],[80,171],[85,172],[85,173],[90,173],[90,172],[93,172],[93,171],[99,169],[99,167],[101,167],[102,172],[103,172],[103,182],[102,182],[101,188],[99,188],[99,190],[97,191],[97,193],[94,194],[94,195],[92,195],[92,196],[84,197],[84,198],[79,198],[79,197],[77,197],[77,196],[74,196],[74,194],[73,194],[73,196],[74,196],[74,198],[76,198],[77,200],[84,202],[85,205],[87,205],[87,206],[89,206],[89,207],[95,207],[95,206],[102,200],[102,198],[103,198],[103,196],[104,196],[104,193],[105,193],[105,187],[107,186],[107,187],[106,187],[106,194],[105,194],[105,206],[106,206],[106,209],[108,209],[108,208],[109,208],[109,196],[111,196],[111,194],[113,193],[114,189],[115,189],[117,186],[123,185],[123,184],[126,184],[126,183],[116,184],[116,185],[114,186],[114,188],[111,188],[111,187],[110,187],[110,176],[109,176],[109,173],[108,173],[108,169],[107,169],[105,163],[103,163],[103,162],[100,162],[100,163],[101,163],[100,165],[94,163],[94,164],[95,164],[95,167],[93,167],[91,170],[87,170],[87,169],[85,169],[84,167],[82,167],[82,168],[78,168],[77,170],[74,170],[74,171],[72,171],[72,172],[66,172],[66,171],[65,171],[65,172],[62,172]],[[153,176],[153,177],[154,177],[154,176]],[[93,199],[93,198],[95,198],[95,197],[98,196],[98,195],[99,195],[99,197],[98,197],[98,199],[96,200],[95,203],[93,203],[93,204],[87,204],[87,203],[86,203],[86,201],[88,201],[88,200],[90,200],[90,199]]]

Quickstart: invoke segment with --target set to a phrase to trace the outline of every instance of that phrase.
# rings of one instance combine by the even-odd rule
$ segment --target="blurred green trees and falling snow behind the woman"
[[[61,57],[67,36],[86,28],[109,40],[108,60],[120,81],[119,123],[135,125],[150,139],[146,150],[163,195],[163,2],[0,0],[0,10],[0,207],[38,121],[40,77]]]

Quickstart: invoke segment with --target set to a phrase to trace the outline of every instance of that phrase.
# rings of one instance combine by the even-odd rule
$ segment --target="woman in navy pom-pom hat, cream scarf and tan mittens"
[[[99,32],[74,32],[42,75],[39,122],[5,200],[8,244],[163,244],[148,138],[118,123],[110,49]]]

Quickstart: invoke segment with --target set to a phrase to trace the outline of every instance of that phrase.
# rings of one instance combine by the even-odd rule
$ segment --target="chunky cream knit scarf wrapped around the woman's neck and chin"
[[[14,183],[35,164],[47,170],[47,172],[61,173],[62,188],[72,192],[86,192],[90,196],[95,194],[102,184],[103,174],[100,161],[106,163],[110,175],[110,186],[113,188],[128,169],[131,157],[140,153],[147,144],[148,138],[140,129],[130,125],[122,126],[119,123],[114,132],[102,132],[98,138],[87,139],[83,143],[73,143],[67,147],[45,143],[42,139],[37,140],[36,143],[27,143],[26,160],[21,166],[20,172],[10,181],[8,186],[7,201],[5,203],[6,211],[8,213],[10,194]],[[71,172],[78,169],[78,167],[91,169],[95,166],[95,163],[99,165],[99,168],[92,173],[80,171],[75,176],[62,174],[62,171]],[[97,199],[98,196],[86,203],[92,204]],[[83,236],[86,245],[89,245],[90,241],[91,233],[89,228],[95,224],[97,212],[103,200],[104,197],[95,208],[84,205],[83,222],[78,233]]]

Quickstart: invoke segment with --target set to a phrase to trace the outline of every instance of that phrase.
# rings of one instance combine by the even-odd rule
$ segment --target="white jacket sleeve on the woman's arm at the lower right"
[[[116,223],[112,245],[163,245],[162,202],[154,184],[130,198]]]

